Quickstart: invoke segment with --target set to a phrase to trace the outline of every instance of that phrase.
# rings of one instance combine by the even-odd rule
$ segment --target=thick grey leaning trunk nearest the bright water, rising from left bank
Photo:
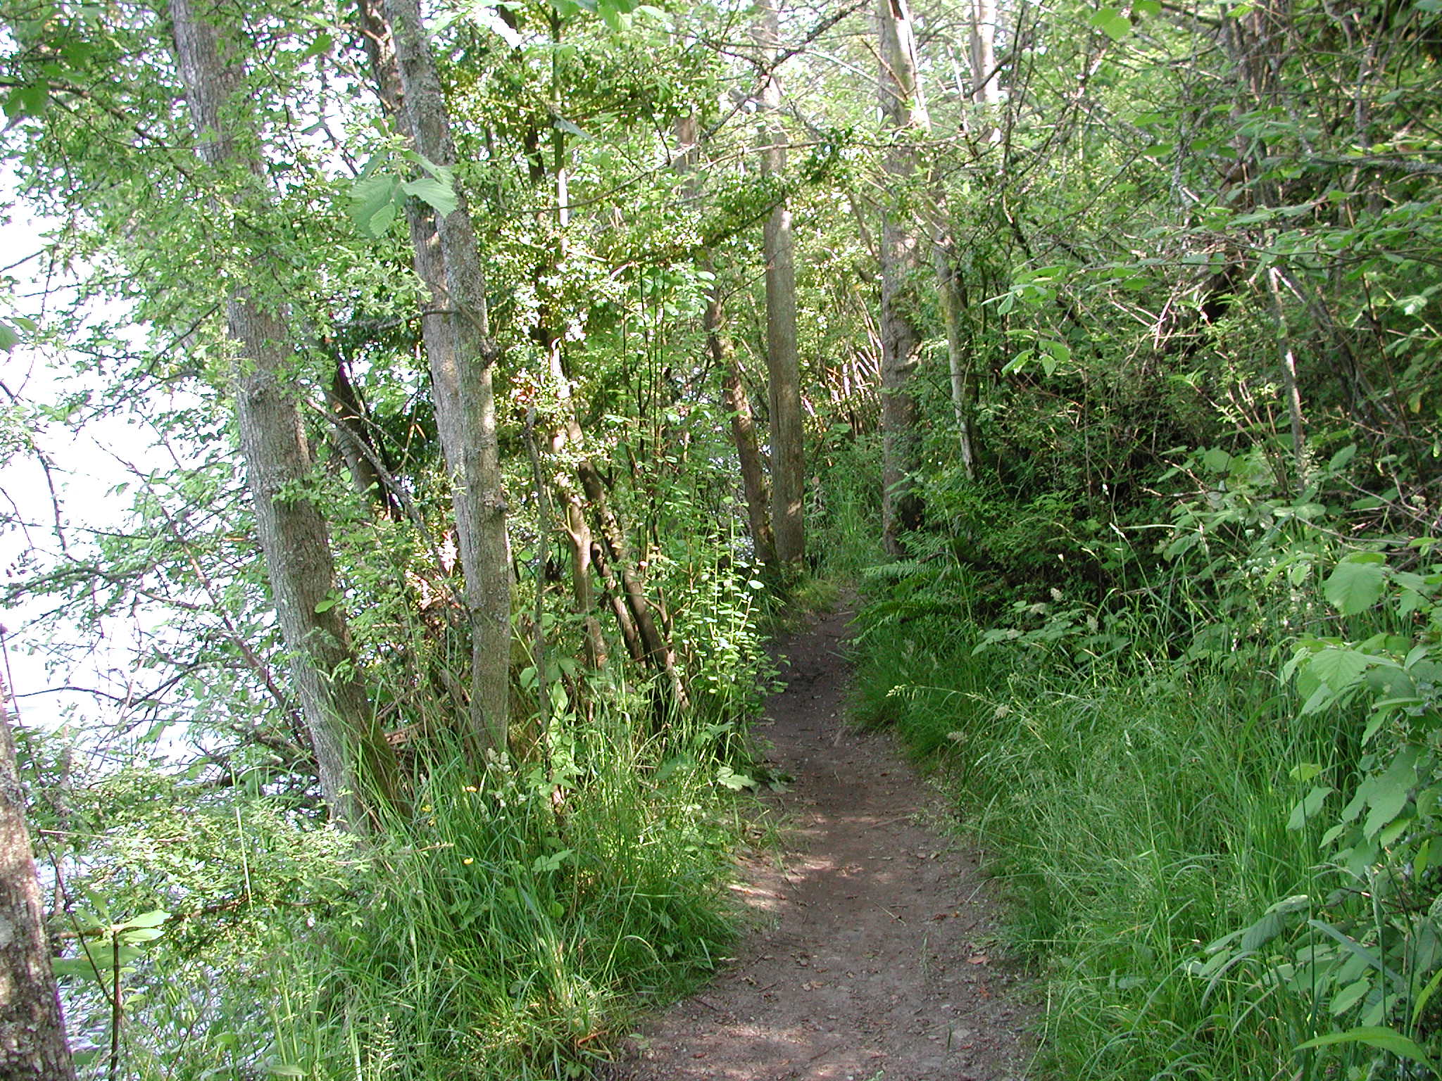
[[[222,120],[241,85],[239,69],[222,56],[218,29],[196,16],[190,0],[172,0],[170,16],[200,157],[212,166],[238,164],[258,186],[261,160],[239,150],[236,140],[249,133]],[[235,202],[242,200],[235,196]],[[254,265],[264,268],[270,259],[257,242]],[[369,809],[398,797],[399,770],[366,699],[336,602],[324,519],[310,499],[297,494],[310,476],[311,460],[294,399],[283,383],[296,350],[281,316],[245,287],[231,293],[226,323],[244,356],[234,378],[235,418],[255,530],[281,634],[294,657],[293,677],[314,744],[320,787],[332,813],[352,829],[365,829]]]

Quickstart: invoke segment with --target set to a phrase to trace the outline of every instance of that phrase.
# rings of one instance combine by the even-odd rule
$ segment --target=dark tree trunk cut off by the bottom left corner
[[[0,1077],[75,1081],[0,682]]]

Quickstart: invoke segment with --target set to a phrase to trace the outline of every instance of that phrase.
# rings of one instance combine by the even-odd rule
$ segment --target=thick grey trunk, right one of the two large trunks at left
[[[421,26],[420,4],[385,0],[385,13],[399,69],[407,134],[423,157],[453,167],[457,156],[450,115]],[[496,344],[490,337],[476,232],[459,187],[456,199],[456,209],[444,216],[414,200],[408,213],[415,268],[437,311],[425,320],[425,352],[466,579],[472,633],[470,737],[477,749],[503,754],[510,695],[510,545],[492,389]]]

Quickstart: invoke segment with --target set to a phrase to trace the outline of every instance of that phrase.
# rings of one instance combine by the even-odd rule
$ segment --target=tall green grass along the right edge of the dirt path
[[[1302,794],[1289,770],[1348,768],[1335,728],[1283,712],[1260,657],[1158,660],[1164,643],[1146,640],[1087,664],[1025,639],[976,653],[982,628],[888,607],[895,595],[862,617],[858,711],[946,762],[1009,897],[1005,934],[1044,982],[1038,1074],[1292,1077],[1315,1019],[1279,993],[1276,958],[1200,964],[1279,898],[1314,892],[1319,830],[1286,827]]]

